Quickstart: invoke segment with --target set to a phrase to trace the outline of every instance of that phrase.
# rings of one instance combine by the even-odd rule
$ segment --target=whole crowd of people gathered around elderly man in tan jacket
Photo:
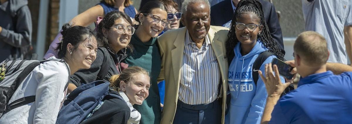
[[[31,44],[24,1],[1,0],[1,74]],[[77,116],[63,111],[80,113],[77,124],[352,123],[352,0],[302,0],[307,31],[297,36],[290,61],[268,1],[142,3],[137,11],[131,0],[101,0],[64,24],[46,60],[0,101],[0,124],[59,124]],[[95,29],[87,28],[91,23]],[[291,68],[272,64],[276,59]],[[296,77],[297,88],[282,95]],[[67,104],[73,97],[94,102],[94,92],[76,93],[99,80],[109,82],[108,95],[89,111],[76,109],[84,106],[78,99]]]

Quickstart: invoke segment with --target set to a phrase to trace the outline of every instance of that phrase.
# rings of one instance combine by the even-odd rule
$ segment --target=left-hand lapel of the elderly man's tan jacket
[[[178,86],[180,82],[180,73],[181,73],[181,65],[182,65],[182,56],[184,49],[184,38],[186,36],[186,27],[183,27],[180,32],[178,32],[177,37],[174,41],[175,48],[171,50],[171,58],[172,58],[172,70],[174,70],[175,77],[175,85]]]

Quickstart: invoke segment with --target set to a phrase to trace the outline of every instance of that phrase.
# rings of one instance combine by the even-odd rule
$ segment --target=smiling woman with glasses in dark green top
[[[149,1],[134,19],[139,22],[136,33],[131,38],[134,50],[127,52],[124,62],[129,66],[144,68],[151,76],[149,97],[142,105],[134,105],[134,108],[142,115],[141,124],[159,124],[161,108],[157,77],[161,69],[161,57],[157,37],[169,25],[167,12],[160,1]]]

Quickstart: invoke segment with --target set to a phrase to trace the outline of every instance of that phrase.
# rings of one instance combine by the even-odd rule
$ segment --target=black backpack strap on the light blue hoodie
[[[252,66],[252,76],[253,76],[253,81],[254,84],[257,85],[258,78],[259,78],[259,69],[260,66],[264,63],[264,61],[269,57],[275,55],[274,53],[271,53],[270,51],[264,51],[263,53],[260,53],[259,56],[257,57],[256,61],[254,61],[253,66]]]

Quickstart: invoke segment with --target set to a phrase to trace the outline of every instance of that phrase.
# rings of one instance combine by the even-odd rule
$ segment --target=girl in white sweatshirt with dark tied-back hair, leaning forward
[[[52,56],[35,67],[10,99],[10,103],[20,98],[31,101],[34,96],[34,102],[11,108],[2,115],[0,124],[55,124],[70,74],[90,68],[97,50],[95,33],[89,28],[64,24],[62,30],[58,57]]]

